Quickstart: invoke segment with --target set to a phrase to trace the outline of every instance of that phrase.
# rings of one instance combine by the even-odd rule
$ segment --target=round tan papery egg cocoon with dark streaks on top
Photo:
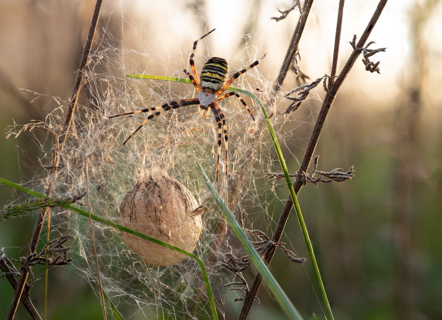
[[[202,230],[194,196],[160,167],[137,174],[136,183],[120,207],[122,226],[193,252]],[[168,266],[186,255],[122,232],[126,245],[147,264]]]

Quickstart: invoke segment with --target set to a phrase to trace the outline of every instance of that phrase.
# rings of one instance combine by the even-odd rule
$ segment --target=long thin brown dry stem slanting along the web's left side
[[[91,26],[89,28],[88,38],[86,40],[86,44],[84,45],[83,55],[81,57],[81,62],[80,62],[80,68],[79,68],[79,71],[77,72],[77,77],[76,77],[75,84],[74,84],[74,90],[72,91],[72,97],[71,97],[71,100],[69,103],[68,110],[65,114],[65,119],[64,119],[63,124],[60,128],[60,134],[59,134],[58,140],[57,140],[58,143],[56,143],[54,157],[53,157],[53,174],[52,174],[53,178],[50,180],[51,181],[50,186],[48,188],[46,188],[46,190],[45,190],[45,195],[48,195],[48,196],[52,195],[53,182],[55,179],[55,175],[54,175],[55,172],[54,171],[55,171],[55,168],[57,167],[57,162],[58,162],[57,152],[61,152],[63,150],[63,146],[64,146],[64,143],[65,143],[65,140],[67,137],[66,133],[67,133],[68,128],[70,127],[70,124],[72,123],[73,109],[74,109],[76,101],[77,101],[81,80],[83,78],[83,69],[87,64],[88,56],[91,51],[92,40],[94,38],[95,28],[96,28],[96,25],[98,22],[98,17],[99,17],[102,2],[103,2],[102,0],[97,0],[97,2],[95,4],[95,10],[94,10],[94,14],[92,16],[92,21],[91,21]],[[61,145],[60,151],[58,151],[58,145]],[[40,238],[40,233],[42,232],[43,222],[44,222],[47,212],[50,212],[50,208],[46,208],[44,210],[41,210],[38,215],[37,222],[35,223],[34,233],[32,234],[31,243],[29,245],[28,255],[30,255],[31,253],[34,253],[37,248],[38,239]],[[48,233],[49,233],[49,230],[48,230]],[[19,279],[17,288],[15,290],[14,297],[12,298],[12,301],[11,301],[11,306],[9,307],[8,315],[6,316],[6,320],[13,320],[14,319],[15,311],[17,310],[17,307],[19,305],[20,297],[23,293],[23,288],[26,284],[27,276],[28,276],[28,273],[23,268],[21,271],[21,274],[20,274],[20,279]]]

